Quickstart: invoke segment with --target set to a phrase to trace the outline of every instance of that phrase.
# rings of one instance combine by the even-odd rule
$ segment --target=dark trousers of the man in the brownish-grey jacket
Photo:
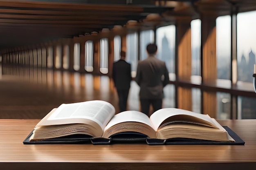
[[[155,112],[162,108],[162,99],[140,99],[141,112],[148,116],[150,104],[152,104]]]

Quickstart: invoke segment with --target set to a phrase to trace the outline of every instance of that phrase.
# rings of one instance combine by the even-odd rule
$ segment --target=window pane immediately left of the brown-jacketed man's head
[[[153,30],[146,30],[141,31],[139,35],[139,45],[140,45],[140,60],[144,60],[148,57],[146,53],[146,47],[148,44],[154,42],[154,31]]]

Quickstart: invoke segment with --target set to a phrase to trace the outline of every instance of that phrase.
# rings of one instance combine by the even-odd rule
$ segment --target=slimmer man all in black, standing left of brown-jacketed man
[[[121,51],[120,55],[121,59],[113,63],[112,78],[119,98],[119,110],[123,112],[126,110],[132,76],[131,64],[125,61],[126,53]]]

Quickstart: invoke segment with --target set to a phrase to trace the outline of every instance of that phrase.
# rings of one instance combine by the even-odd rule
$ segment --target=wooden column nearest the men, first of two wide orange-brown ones
[[[177,21],[177,57],[176,80],[190,81],[191,79],[191,20]],[[191,88],[177,87],[177,108],[192,111]]]

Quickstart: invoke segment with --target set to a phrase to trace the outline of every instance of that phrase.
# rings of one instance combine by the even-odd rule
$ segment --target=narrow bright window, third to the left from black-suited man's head
[[[93,41],[85,42],[85,71],[93,71]]]

